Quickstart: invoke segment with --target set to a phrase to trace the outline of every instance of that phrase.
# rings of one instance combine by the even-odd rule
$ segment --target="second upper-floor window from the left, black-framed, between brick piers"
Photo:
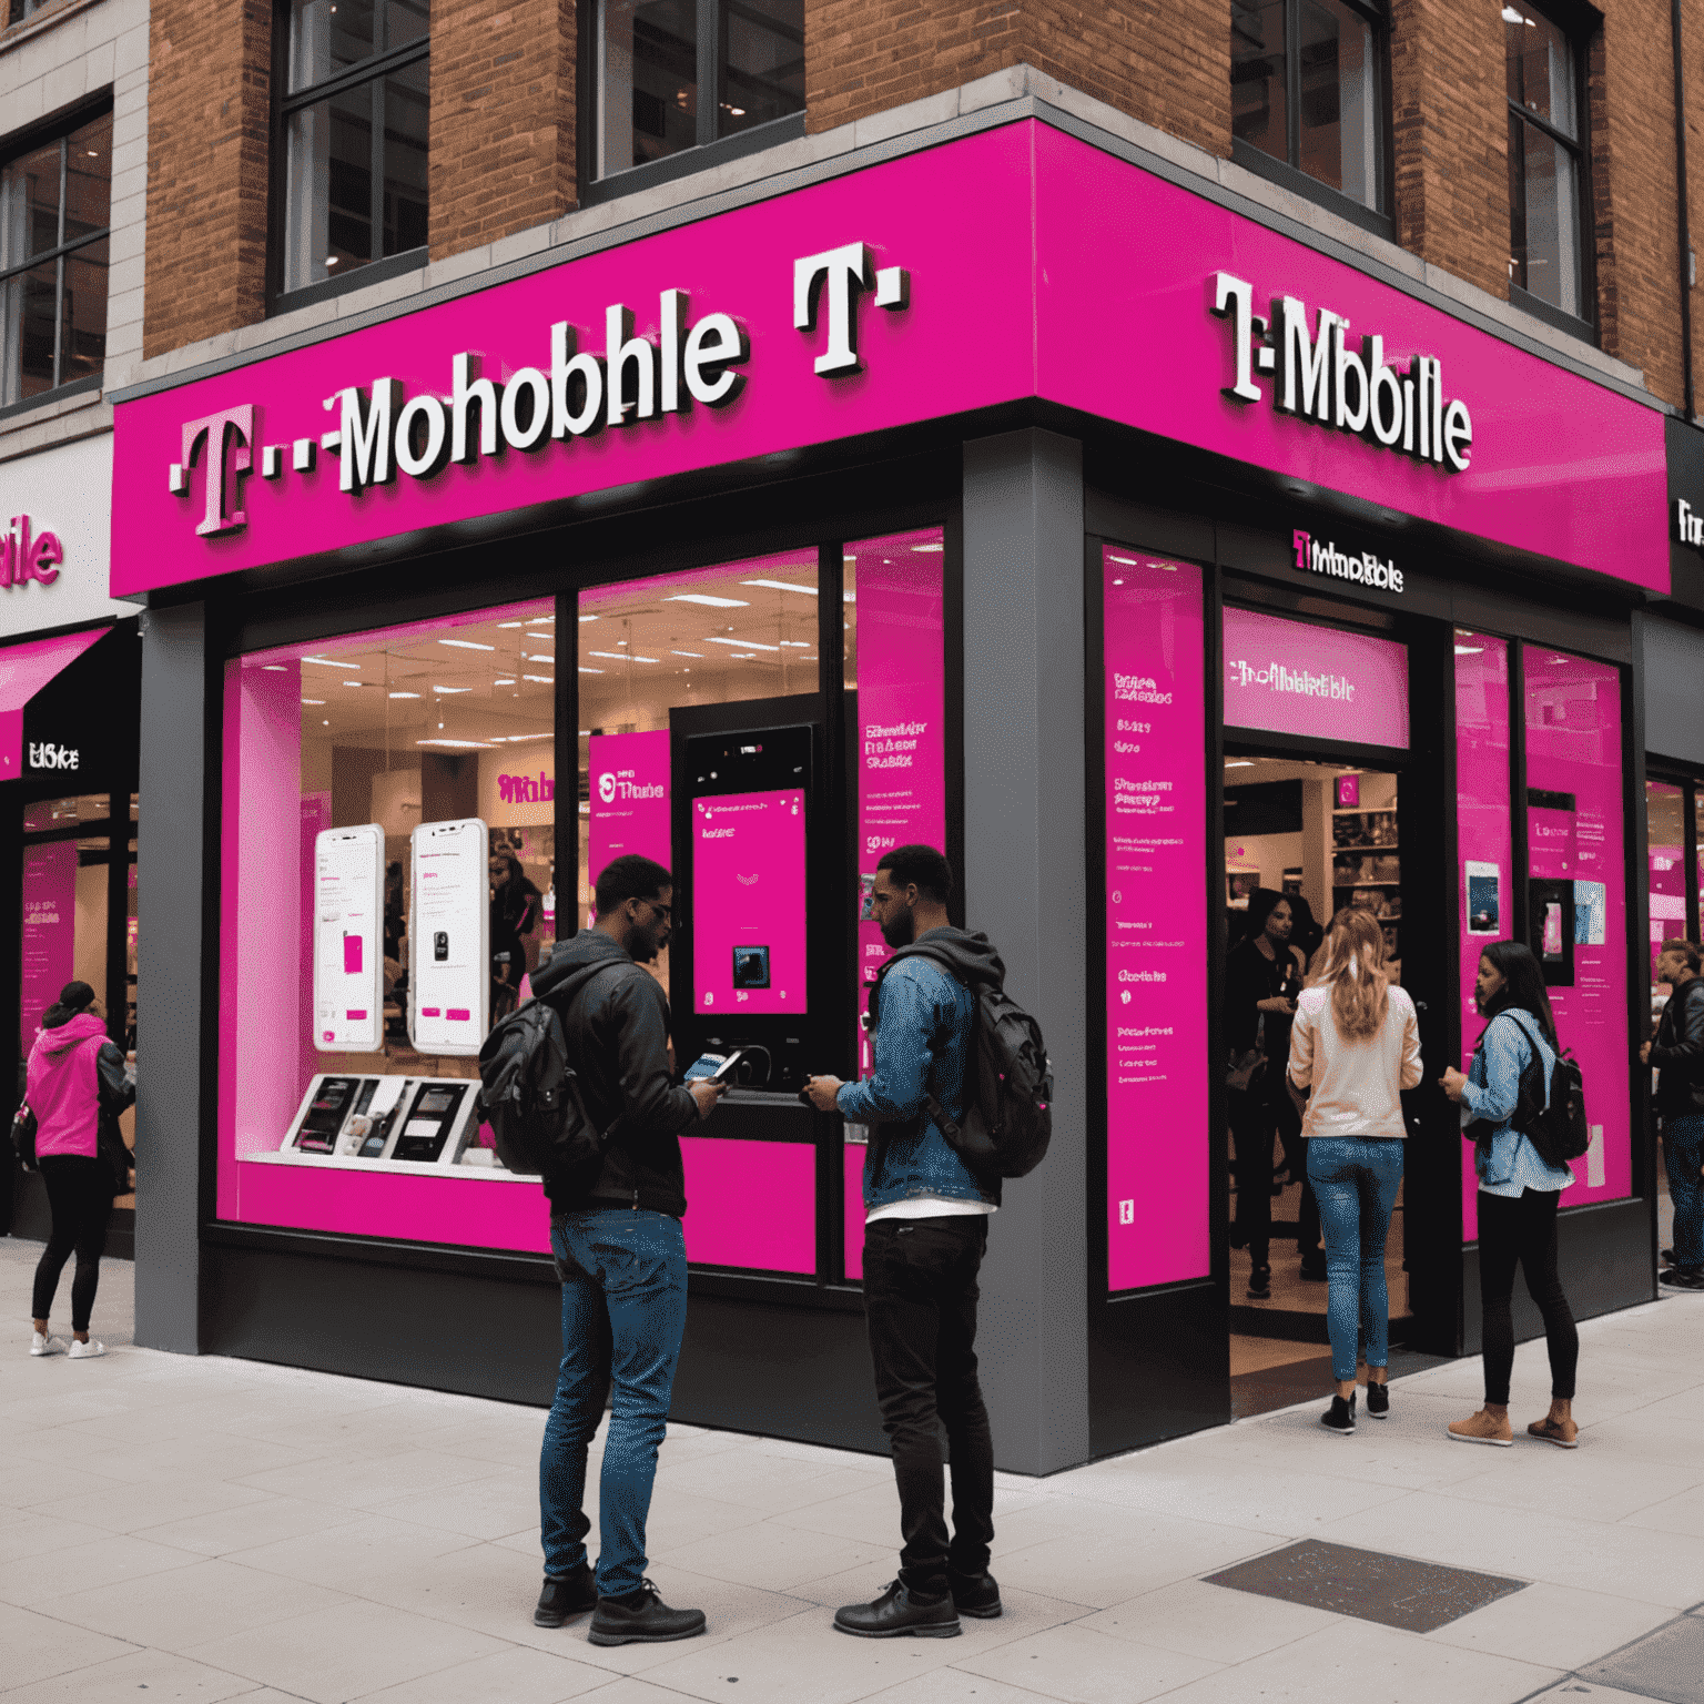
[[[426,247],[431,0],[290,0],[285,293]]]

